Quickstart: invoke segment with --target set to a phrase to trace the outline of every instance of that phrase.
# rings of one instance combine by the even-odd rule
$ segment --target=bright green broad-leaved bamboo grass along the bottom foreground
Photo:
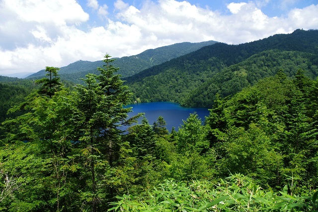
[[[315,210],[317,192],[312,198],[289,195],[286,189],[279,193],[266,192],[250,178],[232,175],[216,184],[166,180],[142,199],[127,195],[117,199],[108,211],[279,212]]]

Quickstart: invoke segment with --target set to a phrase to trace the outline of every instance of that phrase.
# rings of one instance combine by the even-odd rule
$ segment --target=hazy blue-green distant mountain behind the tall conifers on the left
[[[204,46],[217,43],[216,41],[205,41],[200,43],[176,43],[169,46],[163,46],[156,49],[146,50],[138,55],[116,58],[115,67],[119,67],[118,74],[123,77],[129,77],[140,71],[159,65],[165,61],[196,51]],[[98,74],[97,67],[102,67],[102,61],[82,61],[79,60],[68,66],[62,67],[59,71],[62,80],[68,80],[74,83],[81,83],[80,78],[84,78],[87,73]],[[39,79],[45,76],[45,70],[28,76],[26,79]]]

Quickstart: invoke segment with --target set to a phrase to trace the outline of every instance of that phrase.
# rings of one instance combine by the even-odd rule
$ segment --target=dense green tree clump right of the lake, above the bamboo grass
[[[297,194],[316,187],[317,126],[307,112],[313,82],[306,83],[299,87],[279,74],[233,98],[216,96],[206,124],[219,176],[242,173],[274,189],[288,184],[285,175],[294,176]]]

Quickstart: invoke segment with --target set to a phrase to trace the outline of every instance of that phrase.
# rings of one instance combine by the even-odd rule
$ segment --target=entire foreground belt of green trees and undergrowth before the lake
[[[169,133],[160,116],[131,125],[143,114],[128,117],[112,61],[73,92],[47,67],[9,109],[23,114],[1,125],[1,211],[317,210],[318,80],[280,70]]]

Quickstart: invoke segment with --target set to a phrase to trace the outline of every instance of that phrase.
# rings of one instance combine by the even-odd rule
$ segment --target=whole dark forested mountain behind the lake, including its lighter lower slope
[[[298,29],[291,34],[277,34],[239,45],[217,43],[206,46],[125,80],[137,101],[173,101],[184,106],[210,107],[216,93],[228,96],[259,79],[273,76],[278,71],[277,64],[287,76],[294,76],[297,71],[296,66],[289,65],[291,62],[304,69],[308,76],[316,77],[317,54],[318,30]],[[256,65],[258,61],[261,62]],[[245,69],[240,72],[245,80],[238,77],[240,69]],[[238,81],[231,76],[234,72]]]

